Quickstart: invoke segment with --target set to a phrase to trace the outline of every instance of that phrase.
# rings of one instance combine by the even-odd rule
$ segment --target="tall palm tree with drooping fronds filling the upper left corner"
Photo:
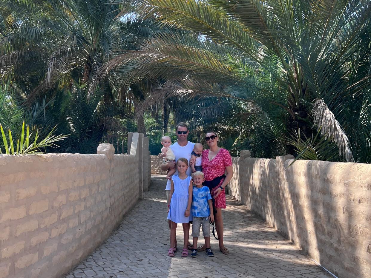
[[[75,92],[74,83],[86,83],[87,97],[104,90],[101,101],[124,107],[121,117],[130,117],[141,92],[116,82],[111,73],[101,75],[102,67],[161,30],[154,20],[136,19],[121,14],[123,10],[113,0],[0,0],[1,81],[11,80],[29,105],[45,97],[49,102],[61,91]],[[143,117],[138,117],[138,128],[145,132]]]

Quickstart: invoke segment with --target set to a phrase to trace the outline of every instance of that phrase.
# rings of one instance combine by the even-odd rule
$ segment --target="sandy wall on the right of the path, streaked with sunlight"
[[[233,158],[232,195],[338,277],[370,278],[371,165],[290,158]]]

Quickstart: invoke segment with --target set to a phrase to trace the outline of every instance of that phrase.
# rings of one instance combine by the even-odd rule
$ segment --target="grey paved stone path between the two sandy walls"
[[[150,191],[144,192],[144,199],[125,216],[120,228],[65,277],[331,277],[232,198],[227,200],[227,209],[223,211],[229,255],[221,254],[217,240],[211,235],[215,257],[199,252],[197,258],[182,258],[180,251],[175,257],[168,257],[164,184],[164,176],[152,176]],[[180,248],[182,231],[178,225]],[[199,238],[199,243],[202,242]]]

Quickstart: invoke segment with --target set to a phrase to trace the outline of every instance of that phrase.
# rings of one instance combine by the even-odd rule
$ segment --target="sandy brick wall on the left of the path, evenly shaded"
[[[57,278],[138,200],[131,155],[0,155],[0,278]]]

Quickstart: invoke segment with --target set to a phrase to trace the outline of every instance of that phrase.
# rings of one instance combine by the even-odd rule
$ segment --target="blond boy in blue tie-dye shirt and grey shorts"
[[[210,222],[214,222],[213,202],[211,201],[210,190],[207,186],[203,186],[202,183],[205,181],[204,174],[202,172],[194,172],[192,174],[193,179],[193,197],[192,197],[192,236],[193,246],[196,249],[192,249],[191,257],[197,257],[197,240],[200,236],[200,228],[202,224],[202,234],[205,238],[206,243],[206,254],[209,257],[214,257],[214,253],[210,248]]]

